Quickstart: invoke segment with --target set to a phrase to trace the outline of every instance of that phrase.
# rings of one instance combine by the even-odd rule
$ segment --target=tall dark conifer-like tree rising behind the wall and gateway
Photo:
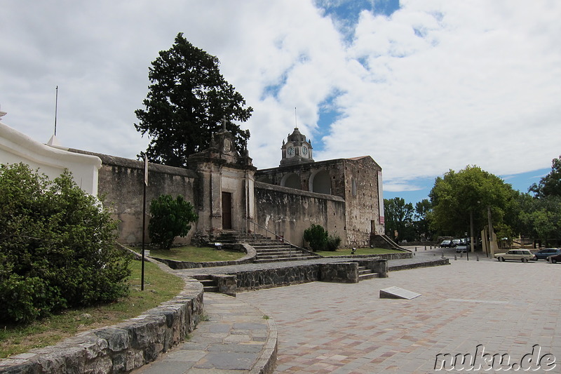
[[[247,121],[253,111],[219,71],[219,60],[177,34],[168,51],[161,51],[149,68],[151,85],[137,109],[135,128],[148,134],[148,159],[170,166],[185,166],[189,154],[210,146],[226,119],[238,152],[250,137],[233,121]],[[142,152],[144,154],[144,152]],[[142,155],[141,154],[141,155]],[[139,155],[139,156],[141,156]]]

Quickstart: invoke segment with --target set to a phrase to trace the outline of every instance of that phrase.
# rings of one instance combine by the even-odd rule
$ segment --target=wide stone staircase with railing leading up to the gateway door
[[[282,241],[277,242],[261,234],[242,234],[241,232],[223,232],[219,238],[222,246],[234,243],[248,243],[255,248],[255,263],[311,260],[321,258],[297,246]]]

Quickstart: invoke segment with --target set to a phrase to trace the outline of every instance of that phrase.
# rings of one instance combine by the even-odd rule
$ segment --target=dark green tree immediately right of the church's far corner
[[[386,235],[394,240],[414,240],[413,204],[405,203],[401,197],[384,199],[384,222]],[[395,232],[398,236],[395,236]]]

